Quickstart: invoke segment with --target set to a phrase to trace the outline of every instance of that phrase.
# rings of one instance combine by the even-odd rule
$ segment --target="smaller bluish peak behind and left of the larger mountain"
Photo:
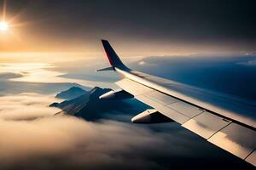
[[[67,89],[66,91],[62,91],[59,94],[55,95],[55,98],[60,98],[60,99],[75,99],[83,94],[87,94],[88,92],[85,91],[82,88],[79,87],[72,87]]]

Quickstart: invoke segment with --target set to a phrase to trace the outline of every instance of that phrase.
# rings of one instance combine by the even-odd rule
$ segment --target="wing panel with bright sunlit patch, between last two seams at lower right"
[[[256,147],[256,132],[235,122],[212,135],[209,142],[246,159]]]

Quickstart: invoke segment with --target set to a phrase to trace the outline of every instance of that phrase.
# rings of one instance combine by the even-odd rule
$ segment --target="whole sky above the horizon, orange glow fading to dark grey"
[[[0,34],[2,56],[99,56],[100,39],[124,57],[255,53],[254,1],[6,0],[5,7],[10,29]]]

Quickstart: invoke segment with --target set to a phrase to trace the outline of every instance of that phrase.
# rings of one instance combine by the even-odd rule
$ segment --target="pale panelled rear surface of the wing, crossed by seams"
[[[256,132],[239,122],[124,78],[116,84],[218,147],[256,166]]]

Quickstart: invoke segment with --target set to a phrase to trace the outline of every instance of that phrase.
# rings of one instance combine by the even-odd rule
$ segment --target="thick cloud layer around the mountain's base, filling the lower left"
[[[59,111],[48,107],[53,100],[0,97],[0,169],[166,169],[161,161],[202,158],[202,146],[211,151],[176,126],[156,132],[128,122],[53,116]]]

